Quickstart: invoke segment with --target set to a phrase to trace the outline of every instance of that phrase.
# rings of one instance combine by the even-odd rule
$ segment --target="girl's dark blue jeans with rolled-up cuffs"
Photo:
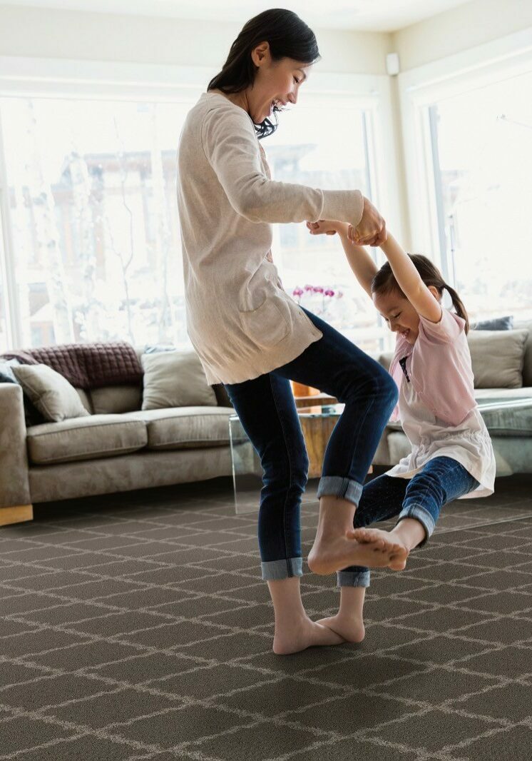
[[[439,513],[448,502],[477,489],[479,482],[458,460],[434,457],[411,479],[378,476],[364,486],[356,508],[354,527],[369,526],[397,515],[396,525],[403,518],[416,518],[423,524],[423,547],[434,531]],[[369,568],[351,565],[337,572],[338,587],[369,587]]]

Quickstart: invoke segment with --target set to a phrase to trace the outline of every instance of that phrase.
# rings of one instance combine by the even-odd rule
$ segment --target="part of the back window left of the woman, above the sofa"
[[[23,345],[188,342],[176,145],[189,107],[0,100]]]

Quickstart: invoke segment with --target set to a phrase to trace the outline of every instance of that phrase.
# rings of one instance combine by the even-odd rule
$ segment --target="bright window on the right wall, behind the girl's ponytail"
[[[527,65],[518,72],[492,65],[427,85],[418,104],[424,140],[416,155],[423,154],[433,199],[432,255],[473,321],[532,317],[532,61]],[[418,184],[410,211],[421,231],[431,213]]]

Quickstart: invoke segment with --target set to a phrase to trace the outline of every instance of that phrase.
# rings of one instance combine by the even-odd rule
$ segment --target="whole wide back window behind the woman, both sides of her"
[[[24,346],[116,339],[189,345],[176,148],[202,89],[185,88],[182,100],[171,102],[126,93],[79,97],[54,92],[52,84],[45,94],[0,97],[0,192],[8,217],[0,348],[10,344],[8,314],[11,336]],[[274,179],[375,197],[377,105],[375,92],[358,100],[305,94],[264,140]],[[382,348],[385,328],[336,237],[311,237],[304,223],[274,225],[273,256],[296,301],[363,349]]]

